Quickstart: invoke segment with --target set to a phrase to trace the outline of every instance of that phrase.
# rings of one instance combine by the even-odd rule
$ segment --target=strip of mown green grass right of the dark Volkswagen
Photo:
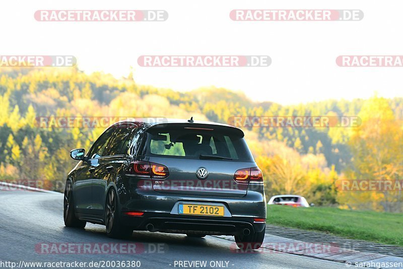
[[[267,224],[403,247],[403,214],[399,213],[270,205]]]

